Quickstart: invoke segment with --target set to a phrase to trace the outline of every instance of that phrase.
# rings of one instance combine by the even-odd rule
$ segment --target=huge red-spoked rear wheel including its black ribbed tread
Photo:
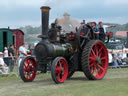
[[[102,79],[108,68],[108,52],[99,40],[92,40],[82,52],[82,69],[90,80]]]

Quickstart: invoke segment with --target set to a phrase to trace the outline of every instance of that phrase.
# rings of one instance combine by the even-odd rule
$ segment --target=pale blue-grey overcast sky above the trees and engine
[[[40,26],[40,7],[50,6],[50,21],[68,12],[86,21],[128,23],[128,0],[0,0],[0,28]]]

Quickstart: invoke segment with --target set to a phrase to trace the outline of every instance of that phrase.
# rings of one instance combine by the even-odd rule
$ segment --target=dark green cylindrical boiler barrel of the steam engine
[[[72,54],[72,46],[70,44],[46,44],[40,42],[35,47],[35,55],[38,60],[54,58],[57,56],[67,57]]]

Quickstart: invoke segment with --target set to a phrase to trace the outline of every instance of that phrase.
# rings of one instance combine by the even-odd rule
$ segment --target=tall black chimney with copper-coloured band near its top
[[[49,11],[51,8],[48,6],[42,6],[40,9],[42,12],[42,35],[39,37],[43,39],[48,37]]]

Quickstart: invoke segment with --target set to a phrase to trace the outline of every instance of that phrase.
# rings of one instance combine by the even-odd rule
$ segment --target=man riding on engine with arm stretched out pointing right
[[[101,41],[105,41],[105,37],[106,37],[106,28],[112,28],[112,27],[116,27],[115,25],[110,25],[110,26],[107,26],[107,25],[103,25],[103,23],[100,21],[99,22],[99,39]]]

